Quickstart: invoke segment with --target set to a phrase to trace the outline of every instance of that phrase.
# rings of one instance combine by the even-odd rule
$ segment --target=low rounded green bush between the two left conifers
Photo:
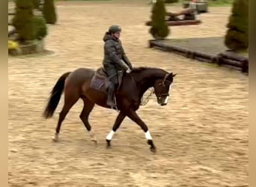
[[[42,16],[34,16],[34,26],[36,30],[35,38],[37,40],[43,39],[46,37],[47,33],[47,25],[46,21]]]

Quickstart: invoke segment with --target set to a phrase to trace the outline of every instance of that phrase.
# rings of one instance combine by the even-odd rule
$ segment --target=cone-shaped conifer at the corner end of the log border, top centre
[[[152,26],[150,28],[150,34],[156,39],[164,39],[169,34],[169,28],[165,22],[165,3],[163,0],[156,0],[153,4],[151,15]]]

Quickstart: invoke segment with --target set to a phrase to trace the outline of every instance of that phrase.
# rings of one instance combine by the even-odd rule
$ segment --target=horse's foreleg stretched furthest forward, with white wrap
[[[141,127],[141,129],[143,129],[144,133],[145,133],[145,136],[147,138],[147,144],[150,145],[150,150],[155,153],[156,152],[156,147],[155,145],[153,144],[153,140],[152,140],[152,137],[150,135],[150,132],[147,128],[147,125],[141,120],[140,117],[138,117],[138,114],[135,112],[135,111],[132,111],[130,110],[129,113],[127,113],[127,116],[133,120],[135,123],[138,124],[138,126]]]

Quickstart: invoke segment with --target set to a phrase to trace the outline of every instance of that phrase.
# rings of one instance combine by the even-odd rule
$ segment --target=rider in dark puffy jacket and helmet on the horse
[[[125,55],[121,40],[119,40],[120,34],[121,27],[119,25],[112,25],[103,37],[103,41],[105,42],[103,67],[110,77],[109,80],[111,82],[111,85],[109,85],[107,105],[112,107],[114,105],[113,97],[115,88],[118,85],[118,71],[124,70],[127,73],[132,71],[132,64],[127,58],[127,55]]]

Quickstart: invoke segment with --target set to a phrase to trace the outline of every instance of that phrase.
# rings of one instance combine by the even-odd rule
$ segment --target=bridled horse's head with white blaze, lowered
[[[156,99],[159,105],[167,105],[169,93],[171,91],[171,84],[174,81],[174,76],[177,74],[165,74],[164,79],[156,79],[153,88],[156,94]]]

